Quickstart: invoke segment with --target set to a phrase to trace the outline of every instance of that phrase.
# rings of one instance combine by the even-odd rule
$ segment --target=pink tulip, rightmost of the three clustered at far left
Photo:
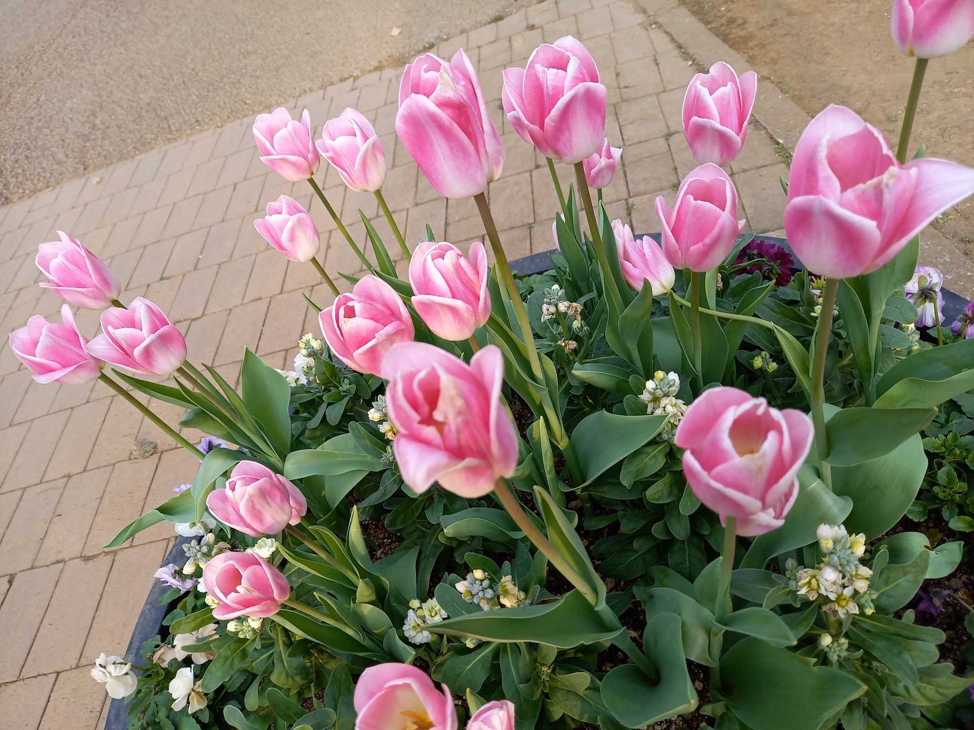
[[[101,334],[85,351],[135,375],[165,377],[185,361],[186,341],[162,310],[135,297],[128,310],[101,312]]]

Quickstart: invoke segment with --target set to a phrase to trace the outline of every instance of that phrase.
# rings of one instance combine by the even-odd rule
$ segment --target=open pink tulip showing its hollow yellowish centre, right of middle
[[[813,437],[801,411],[778,411],[735,387],[704,390],[676,429],[693,493],[722,525],[737,518],[737,534],[747,536],[784,524]]]

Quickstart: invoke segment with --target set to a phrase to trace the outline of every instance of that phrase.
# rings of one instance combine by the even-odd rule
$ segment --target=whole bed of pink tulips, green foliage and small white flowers
[[[404,240],[355,110],[317,141],[307,112],[260,115],[262,160],[308,181],[367,273],[339,293],[311,216],[269,203],[258,233],[335,300],[293,371],[247,350],[239,390],[187,359],[154,304],[119,302],[80,242],[42,244],[50,286],[107,308],[103,332],[87,342],[65,306],[63,324],[15,333],[15,352],[41,382],[101,379],[201,459],[109,543],[164,520],[197,534],[157,573],[157,602],[174,605],[131,657],[137,682],[118,657],[93,670],[131,697],[129,726],[615,730],[682,715],[769,730],[785,701],[799,730],[969,721],[956,606],[970,575],[945,537],[974,527],[955,470],[974,327],[966,309],[944,326],[940,278],[917,259],[974,170],[906,162],[925,65],[896,156],[843,107],[805,130],[783,181],[793,257],[740,235],[718,166],[745,143],[753,73],[694,77],[684,130],[701,164],[672,207],[657,199],[660,244],[593,200],[620,155],[594,60],[572,37],[543,45],[505,71],[507,118],[576,181],[549,165],[558,252],[518,278],[484,195],[504,151],[463,51],[406,67],[396,131],[437,191],[475,200],[493,265],[479,241]],[[376,261],[361,254],[315,180],[320,156],[376,195],[406,278],[364,216]],[[187,442],[123,383],[212,438]],[[921,493],[924,445],[937,486]],[[924,625],[941,616],[949,643]]]

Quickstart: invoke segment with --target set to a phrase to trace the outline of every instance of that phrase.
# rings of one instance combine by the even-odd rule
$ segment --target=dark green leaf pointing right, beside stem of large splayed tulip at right
[[[933,408],[846,408],[825,425],[826,461],[854,466],[893,451],[937,415]]]

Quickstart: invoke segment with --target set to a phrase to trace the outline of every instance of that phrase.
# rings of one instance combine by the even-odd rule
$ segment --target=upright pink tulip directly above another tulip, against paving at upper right
[[[696,74],[683,97],[683,133],[698,163],[728,164],[747,138],[758,74],[737,74],[723,61]]]

